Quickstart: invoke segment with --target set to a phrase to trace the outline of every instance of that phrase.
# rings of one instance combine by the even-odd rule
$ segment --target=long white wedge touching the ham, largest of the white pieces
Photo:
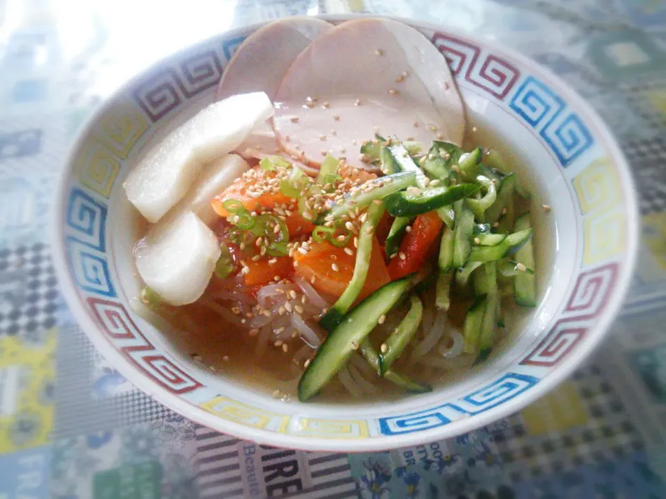
[[[128,200],[149,222],[157,222],[187,193],[203,166],[237,148],[257,123],[273,115],[263,92],[216,102],[173,130],[130,172]]]

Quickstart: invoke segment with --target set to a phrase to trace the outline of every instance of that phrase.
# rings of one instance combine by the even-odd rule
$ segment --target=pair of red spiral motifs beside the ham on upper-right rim
[[[518,68],[493,54],[481,54],[481,49],[470,42],[443,33],[434,33],[432,42],[449,62],[452,73],[472,85],[484,89],[499,100],[504,100],[520,76]]]

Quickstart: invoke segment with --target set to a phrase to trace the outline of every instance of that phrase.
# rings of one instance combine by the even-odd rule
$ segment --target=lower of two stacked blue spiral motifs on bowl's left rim
[[[115,297],[109,265],[103,254],[73,237],[67,237],[69,267],[78,286],[86,291],[106,297]]]

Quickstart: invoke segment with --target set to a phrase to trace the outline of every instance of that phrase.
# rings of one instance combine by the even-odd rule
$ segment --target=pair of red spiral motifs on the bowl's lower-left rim
[[[156,383],[173,394],[184,394],[202,386],[155,350],[121,304],[92,297],[86,301],[92,318],[113,340],[114,346]]]

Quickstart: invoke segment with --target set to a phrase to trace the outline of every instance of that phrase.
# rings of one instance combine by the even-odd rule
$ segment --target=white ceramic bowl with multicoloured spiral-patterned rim
[[[334,23],[350,17],[325,17]],[[80,132],[54,207],[67,304],[94,345],[168,408],[240,437],[307,450],[370,451],[452,437],[505,417],[567,378],[604,338],[635,261],[633,181],[606,125],[565,82],[522,55],[417,21],[445,54],[484,145],[527,166],[545,269],[540,304],[482,365],[431,394],[353,405],[284,403],[200,367],[134,311],[139,288],[123,180],[142,151],[212,103],[225,64],[260,25],[158,62]],[[541,204],[549,204],[546,213]]]

